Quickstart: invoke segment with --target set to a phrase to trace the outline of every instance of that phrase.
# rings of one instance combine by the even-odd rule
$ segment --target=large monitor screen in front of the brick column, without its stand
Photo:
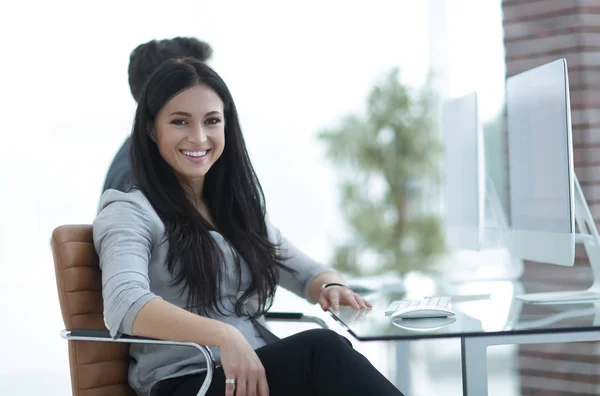
[[[511,252],[572,266],[574,172],[566,61],[509,77],[506,110]]]

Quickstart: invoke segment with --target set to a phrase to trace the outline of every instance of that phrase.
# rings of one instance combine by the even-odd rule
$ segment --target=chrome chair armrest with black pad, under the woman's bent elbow
[[[198,345],[193,342],[178,342],[178,341],[164,341],[157,340],[154,338],[146,337],[135,337],[129,335],[122,335],[119,338],[112,338],[108,330],[87,330],[87,329],[73,329],[73,330],[62,330],[60,336],[68,341],[100,341],[100,342],[121,342],[126,344],[155,344],[155,345],[178,345],[188,346],[198,349],[204,359],[206,360],[206,378],[198,391],[197,396],[204,396],[208,391],[210,383],[212,381],[213,374],[215,372],[215,358],[210,349],[205,345]]]

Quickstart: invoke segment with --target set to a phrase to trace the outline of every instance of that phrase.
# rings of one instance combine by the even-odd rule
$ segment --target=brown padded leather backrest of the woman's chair
[[[92,226],[56,228],[52,251],[65,328],[106,330]],[[69,341],[73,396],[135,396],[127,382],[128,348],[124,343]]]

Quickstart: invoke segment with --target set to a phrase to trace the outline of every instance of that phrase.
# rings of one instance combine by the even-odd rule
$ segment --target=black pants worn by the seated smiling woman
[[[270,396],[402,396],[350,341],[330,330],[308,330],[256,350]],[[157,396],[195,396],[204,374],[161,381]],[[223,368],[207,395],[225,395]]]

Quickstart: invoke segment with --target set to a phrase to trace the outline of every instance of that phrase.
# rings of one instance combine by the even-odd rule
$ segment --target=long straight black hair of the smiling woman
[[[240,278],[240,256],[250,268],[250,287],[238,299],[235,312],[244,314],[244,302],[256,294],[258,310],[249,314],[257,317],[270,306],[279,269],[290,269],[282,264],[279,246],[267,238],[264,194],[246,150],[231,93],[206,64],[190,58],[166,61],[144,85],[131,133],[133,187],[148,198],[165,223],[167,268],[174,285],[187,293],[188,307],[204,314],[223,314],[223,252],[209,234],[212,226],[200,215],[151,138],[160,109],[178,93],[198,84],[215,91],[225,113],[224,151],[205,176],[203,198],[218,231],[233,247]]]

